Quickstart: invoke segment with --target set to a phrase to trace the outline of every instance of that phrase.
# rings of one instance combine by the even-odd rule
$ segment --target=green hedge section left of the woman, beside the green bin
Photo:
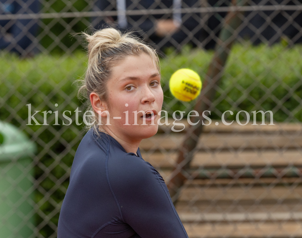
[[[31,103],[31,111],[34,114],[35,110],[42,111],[56,111],[63,112],[65,110],[74,111],[75,108],[81,107],[82,102],[76,98],[76,84],[72,84],[76,78],[82,76],[83,71],[86,67],[86,57],[83,52],[79,52],[71,57],[55,57],[38,55],[33,59],[21,60],[14,55],[3,55],[0,57],[0,98],[5,100],[5,105],[0,108],[0,120],[9,121],[12,124],[20,127],[19,121],[24,121],[23,126],[28,122],[28,107],[26,104]],[[69,99],[70,97],[70,99]],[[56,108],[54,105],[57,103],[59,106]],[[10,108],[12,108],[10,110]],[[81,109],[79,109],[81,110]],[[43,116],[43,114],[40,114]],[[73,112],[74,113],[74,112]],[[62,113],[61,117],[62,117]],[[37,114],[36,114],[37,115]],[[43,121],[39,120],[35,115],[35,118],[43,124]],[[66,114],[68,115],[68,114]],[[53,114],[51,116],[54,116]],[[73,161],[73,155],[69,153],[70,149],[66,148],[63,143],[59,142],[59,138],[55,138],[54,132],[59,132],[59,137],[64,139],[66,143],[75,144],[72,149],[76,151],[82,134],[82,126],[77,126],[75,123],[66,129],[62,126],[62,121],[59,122],[61,126],[53,125],[55,121],[48,114],[47,123],[50,126],[38,126],[38,125],[25,125],[29,131],[38,131],[37,141],[37,154],[41,156],[40,163],[35,167],[35,177],[39,179],[44,173],[44,166],[51,168],[51,176],[46,177],[40,183],[45,191],[50,191],[55,185],[53,176],[56,179],[63,179],[62,186],[65,189],[68,187],[69,178],[64,179],[66,174],[66,167],[71,167]],[[42,119],[43,120],[43,119]],[[79,123],[81,123],[81,117]],[[68,121],[65,121],[68,124]],[[32,124],[34,122],[32,121]],[[52,129],[52,130],[51,130]],[[62,132],[62,130],[64,132]],[[31,138],[33,133],[25,133]],[[81,138],[79,138],[81,137]],[[54,143],[50,146],[50,151],[43,152],[44,146],[40,144],[39,140],[45,143],[49,143],[54,139]],[[52,164],[55,161],[55,155],[62,155],[63,158],[60,160],[59,165],[52,168]],[[59,203],[63,200],[64,188],[60,186],[58,189],[51,194],[51,198]],[[62,191],[63,190],[63,191]],[[36,202],[39,202],[44,194],[43,192],[36,191]],[[53,210],[54,206],[46,201],[40,207],[40,209],[49,215]],[[43,219],[36,215],[37,223],[43,221]],[[54,224],[58,223],[59,213],[51,218]],[[53,229],[46,225],[40,230],[40,233],[44,237],[49,237],[53,233]]]

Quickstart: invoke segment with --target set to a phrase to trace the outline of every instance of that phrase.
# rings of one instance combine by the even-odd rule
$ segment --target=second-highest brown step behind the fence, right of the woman
[[[157,134],[140,143],[141,152],[179,149],[185,135],[182,133]],[[300,149],[302,133],[207,133],[198,141],[196,149],[211,150],[244,150],[244,149]]]

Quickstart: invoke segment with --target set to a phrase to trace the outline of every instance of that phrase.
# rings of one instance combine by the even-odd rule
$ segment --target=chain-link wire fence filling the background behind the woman
[[[301,237],[300,0],[1,0],[0,120],[37,148],[0,124],[0,237],[56,237],[85,135],[74,81],[87,57],[75,33],[106,26],[132,31],[161,57],[170,125],[140,151],[164,178],[189,237]],[[169,91],[180,68],[202,78],[192,102]],[[192,110],[203,124],[188,124]],[[184,111],[181,120],[175,111]],[[180,132],[173,122],[183,123]]]

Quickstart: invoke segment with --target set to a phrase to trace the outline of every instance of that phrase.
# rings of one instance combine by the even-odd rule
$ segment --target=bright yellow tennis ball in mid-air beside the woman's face
[[[169,86],[175,98],[190,102],[199,95],[201,80],[199,75],[193,70],[179,69],[172,74]]]

